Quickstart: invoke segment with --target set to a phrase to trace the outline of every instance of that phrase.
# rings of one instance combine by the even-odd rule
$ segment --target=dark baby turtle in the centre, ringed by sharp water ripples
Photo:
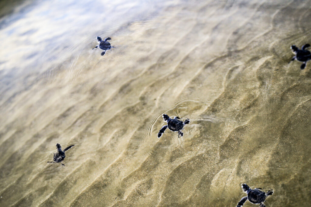
[[[183,133],[182,133],[182,130],[183,130],[183,126],[185,124],[189,124],[190,123],[190,120],[189,119],[186,119],[184,122],[181,121],[181,120],[178,120],[180,119],[178,116],[175,116],[174,119],[171,119],[169,118],[168,115],[166,114],[163,114],[162,115],[164,121],[167,122],[167,125],[164,125],[159,133],[158,133],[158,138],[160,138],[162,136],[162,134],[164,133],[165,129],[166,128],[169,128],[169,130],[173,131],[173,132],[177,132],[178,131],[178,137],[179,136],[183,136]]]

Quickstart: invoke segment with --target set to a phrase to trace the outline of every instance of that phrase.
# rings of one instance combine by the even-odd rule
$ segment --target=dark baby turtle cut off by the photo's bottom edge
[[[236,207],[241,207],[246,200],[249,200],[252,204],[260,204],[260,207],[266,207],[264,202],[268,196],[271,196],[274,191],[270,189],[267,193],[260,191],[261,188],[255,188],[252,190],[248,185],[242,184],[242,189],[247,193],[247,196],[243,197]]]

